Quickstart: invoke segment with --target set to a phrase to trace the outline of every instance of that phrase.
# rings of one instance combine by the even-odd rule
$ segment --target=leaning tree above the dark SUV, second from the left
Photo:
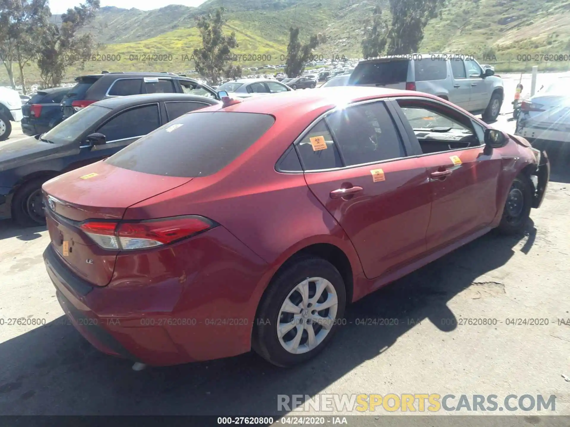
[[[99,0],[86,0],[62,14],[60,26],[50,23],[44,28],[38,52],[38,67],[44,87],[58,86],[67,67],[78,63],[83,68],[89,60],[98,45],[91,33],[79,35],[78,32],[95,18],[97,10]]]

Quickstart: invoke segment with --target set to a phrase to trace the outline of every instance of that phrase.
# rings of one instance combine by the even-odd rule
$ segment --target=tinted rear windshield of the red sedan
[[[207,176],[233,162],[274,122],[273,116],[258,113],[184,114],[112,155],[107,162],[145,174]]]

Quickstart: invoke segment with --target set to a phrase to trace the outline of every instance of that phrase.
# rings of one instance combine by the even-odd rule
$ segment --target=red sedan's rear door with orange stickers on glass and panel
[[[424,253],[431,194],[427,173],[383,101],[349,106],[296,143],[306,182],[347,233],[368,278]]]

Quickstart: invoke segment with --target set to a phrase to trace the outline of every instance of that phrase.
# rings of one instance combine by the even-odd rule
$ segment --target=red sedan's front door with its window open
[[[427,250],[489,225],[498,211],[502,156],[484,146],[483,126],[437,101],[408,98],[397,102],[405,125],[410,126],[414,150],[420,153],[418,161],[429,174],[433,203]]]

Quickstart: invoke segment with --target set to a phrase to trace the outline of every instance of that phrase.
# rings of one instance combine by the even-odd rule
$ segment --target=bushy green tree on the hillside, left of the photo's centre
[[[223,26],[226,23],[223,19],[224,11],[225,9],[220,7],[215,10],[214,15],[210,12],[207,15],[196,17],[196,26],[202,35],[202,47],[194,49],[196,71],[211,81],[213,85],[218,84],[220,76],[226,71],[235,73],[238,68],[231,64],[227,66],[231,59],[231,50],[239,47],[239,44],[235,39],[234,31],[229,36],[223,34]],[[239,73],[241,74],[241,67]]]

